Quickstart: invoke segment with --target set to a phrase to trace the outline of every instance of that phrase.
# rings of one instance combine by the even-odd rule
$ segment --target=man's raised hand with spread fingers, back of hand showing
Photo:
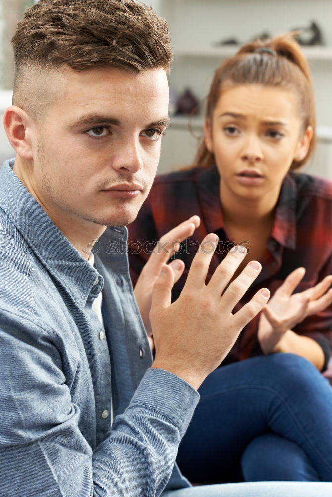
[[[242,328],[263,309],[270,296],[269,290],[261,289],[232,314],[260,273],[261,265],[251,261],[229,284],[247,253],[245,247],[234,247],[206,285],[217,243],[215,234],[209,234],[203,240],[181,295],[173,304],[174,272],[169,266],[162,267],[153,288],[150,312],[156,347],[153,367],[170,371],[195,388],[218,367]]]

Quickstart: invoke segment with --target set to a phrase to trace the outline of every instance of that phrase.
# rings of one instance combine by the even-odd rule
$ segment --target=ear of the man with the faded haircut
[[[31,118],[28,114],[20,107],[11,105],[4,113],[3,125],[8,140],[17,154],[22,159],[33,159]]]

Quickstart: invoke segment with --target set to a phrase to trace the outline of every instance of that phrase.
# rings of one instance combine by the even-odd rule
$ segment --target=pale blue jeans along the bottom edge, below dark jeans
[[[332,483],[251,482],[169,490],[161,497],[331,497]]]

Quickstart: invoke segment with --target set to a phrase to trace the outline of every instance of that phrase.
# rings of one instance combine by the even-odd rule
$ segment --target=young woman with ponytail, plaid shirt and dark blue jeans
[[[249,43],[215,72],[194,165],[157,178],[130,227],[148,331],[161,266],[176,252],[176,299],[210,232],[220,239],[211,273],[238,244],[248,250],[244,264],[262,264],[239,307],[258,286],[272,295],[200,388],[178,453],[192,481],[332,481],[332,389],[320,374],[332,343],[332,183],[293,172],[314,142],[313,87],[300,47],[289,35]]]

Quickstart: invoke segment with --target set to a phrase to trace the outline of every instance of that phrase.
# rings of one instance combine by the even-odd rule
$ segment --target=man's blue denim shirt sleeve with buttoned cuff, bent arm
[[[50,330],[0,312],[0,480],[6,497],[157,497],[199,395],[149,368],[94,450]],[[162,395],[161,395],[162,392]],[[82,406],[84,406],[82,399]]]

